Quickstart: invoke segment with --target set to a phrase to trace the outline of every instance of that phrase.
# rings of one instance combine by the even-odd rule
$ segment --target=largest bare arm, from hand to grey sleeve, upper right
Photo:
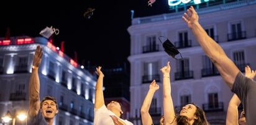
[[[221,46],[209,37],[203,27],[201,27],[198,22],[198,14],[194,10],[193,6],[187,10],[187,13],[184,13],[182,19],[186,24],[188,24],[188,27],[192,30],[194,37],[198,40],[199,45],[217,67],[226,84],[232,89],[235,77],[239,72],[237,66],[235,66],[231,59],[227,57]]]

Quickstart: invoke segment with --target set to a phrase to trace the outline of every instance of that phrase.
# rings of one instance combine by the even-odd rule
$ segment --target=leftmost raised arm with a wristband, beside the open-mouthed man
[[[32,72],[29,80],[29,116],[35,117],[40,109],[40,80],[38,68],[41,64],[43,49],[37,45],[35,50]]]

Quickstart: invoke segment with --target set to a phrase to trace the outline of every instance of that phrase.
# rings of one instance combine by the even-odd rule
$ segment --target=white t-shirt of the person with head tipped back
[[[114,121],[111,116],[116,116],[116,114],[112,113],[112,111],[107,110],[106,105],[101,106],[101,108],[96,109],[94,108],[94,121],[93,125],[114,125]],[[121,119],[116,116],[122,123],[126,125],[133,125],[127,119]]]

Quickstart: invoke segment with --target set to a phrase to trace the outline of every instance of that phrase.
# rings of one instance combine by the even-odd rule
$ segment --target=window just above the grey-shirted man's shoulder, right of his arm
[[[247,65],[245,64],[244,51],[235,51],[233,53],[233,59],[235,65],[240,69],[240,71],[244,72],[244,67]]]

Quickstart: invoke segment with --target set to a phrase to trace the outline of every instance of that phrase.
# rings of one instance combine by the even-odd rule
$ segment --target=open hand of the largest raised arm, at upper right
[[[182,19],[188,24],[188,28],[191,28],[193,24],[198,23],[198,13],[194,10],[193,6],[190,6],[184,13]]]

